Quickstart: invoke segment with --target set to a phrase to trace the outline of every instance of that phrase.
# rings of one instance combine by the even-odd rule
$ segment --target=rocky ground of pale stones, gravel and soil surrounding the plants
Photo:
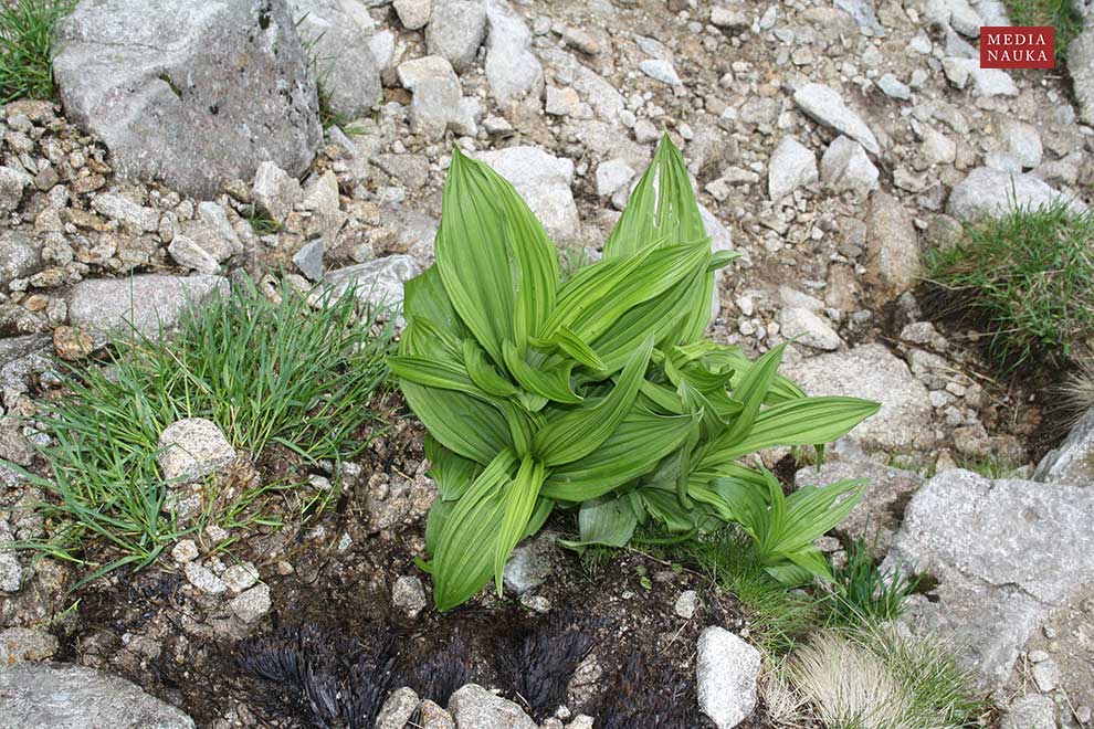
[[[32,418],[59,361],[87,357],[112,327],[152,335],[243,272],[270,290],[356,283],[397,303],[432,262],[452,145],[509,179],[571,260],[596,257],[667,130],[714,244],[743,254],[720,278],[715,338],[759,353],[796,337],[786,373],[809,392],[882,403],[799,485],[873,479],[844,531],[880,529],[891,562],[937,579],[904,622],[954,642],[1002,726],[1090,726],[1094,425],[1041,461],[1066,432],[1045,382],[995,379],[975,336],[926,319],[917,286],[922,251],[960,223],[1091,199],[1094,31],[1075,43],[1073,86],[978,67],[979,25],[1006,24],[992,0],[146,4],[80,3],[59,32],[62,104],[0,109],[6,414]],[[425,610],[412,560],[433,487],[421,434],[399,422],[345,466],[335,513],[230,553],[210,553],[221,539],[206,535],[67,593],[75,568],[0,552],[0,663],[19,664],[0,690],[30,691],[11,704],[15,726],[42,725],[27,687],[45,682],[78,686],[85,707],[135,691],[158,726],[190,726],[162,701],[201,726],[294,725],[306,707],[242,672],[238,641],[302,622],[324,641],[381,630],[399,644],[380,673],[415,693],[395,695],[377,726],[589,726],[638,680],[633,662],[687,695],[664,726],[706,726],[704,675],[750,659],[733,634],[704,633],[747,626],[701,575],[639,553],[590,575],[540,538],[511,564],[515,600]],[[42,469],[33,444],[48,437],[3,420],[0,457]],[[786,471],[787,456],[765,459]],[[988,458],[1012,473],[955,469]],[[40,495],[2,477],[0,542],[55,526],[17,508]],[[497,641],[516,624],[588,638],[556,717],[474,686],[448,711],[428,700],[445,701],[415,674],[431,661],[463,667],[451,688],[503,688]],[[23,663],[50,656],[73,665]],[[475,714],[495,709],[511,723]],[[762,701],[748,721],[771,726]]]

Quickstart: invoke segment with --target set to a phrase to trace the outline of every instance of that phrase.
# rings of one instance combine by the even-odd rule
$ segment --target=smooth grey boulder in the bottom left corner
[[[139,686],[66,664],[0,668],[0,723],[8,729],[192,729],[193,720]]]

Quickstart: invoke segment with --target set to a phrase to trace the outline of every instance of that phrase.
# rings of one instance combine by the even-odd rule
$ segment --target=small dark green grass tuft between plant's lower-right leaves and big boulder
[[[848,547],[846,564],[833,570],[828,596],[829,622],[876,625],[895,620],[918,584],[918,578],[900,569],[883,571],[877,566],[874,547],[853,539]]]

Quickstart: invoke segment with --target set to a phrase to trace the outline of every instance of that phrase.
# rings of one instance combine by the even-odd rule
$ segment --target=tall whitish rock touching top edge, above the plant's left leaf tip
[[[544,68],[532,52],[532,31],[507,0],[486,2],[486,81],[502,106],[538,97]]]

